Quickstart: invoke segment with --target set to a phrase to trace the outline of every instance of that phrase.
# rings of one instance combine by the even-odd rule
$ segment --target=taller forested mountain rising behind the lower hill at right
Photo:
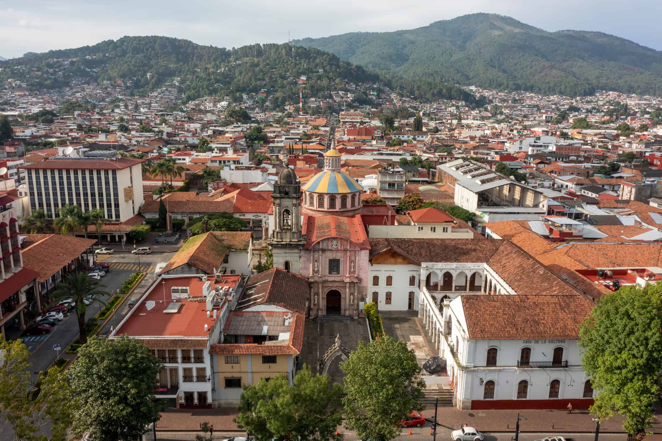
[[[409,79],[588,95],[662,95],[662,52],[601,32],[547,32],[510,17],[471,14],[412,30],[352,32],[295,44]]]

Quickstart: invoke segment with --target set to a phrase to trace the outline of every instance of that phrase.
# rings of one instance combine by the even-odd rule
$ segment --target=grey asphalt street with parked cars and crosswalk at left
[[[156,264],[158,262],[167,262],[173,254],[174,253],[168,252],[137,256],[131,253],[117,253],[99,256],[99,262],[105,262],[111,266],[111,270],[99,281],[101,285],[103,285],[103,289],[107,291],[109,295],[101,297],[100,300],[103,302],[108,301],[111,298],[111,295],[114,295],[122,286],[124,279],[138,271],[138,260],[140,260],[140,269],[142,271],[147,271],[146,277],[151,279],[154,277],[154,268],[156,267]],[[138,294],[139,293],[134,291],[132,297]],[[94,317],[103,306],[104,305],[101,302],[94,302],[89,305],[87,311],[85,311],[85,320]],[[108,334],[110,332],[110,327],[113,326],[114,323],[117,324],[127,311],[128,307],[126,305],[122,306],[114,319],[111,319],[100,333]],[[49,334],[22,336],[21,338],[23,338],[26,347],[31,353],[28,362],[32,364],[30,367],[32,379],[36,379],[39,371],[47,369],[56,359],[58,353],[53,349],[54,344],[60,344],[62,351],[64,351],[67,346],[77,338],[77,336],[78,322],[76,320],[76,315],[73,312],[65,317],[60,324],[54,326]],[[62,355],[62,352],[60,352],[60,355]]]

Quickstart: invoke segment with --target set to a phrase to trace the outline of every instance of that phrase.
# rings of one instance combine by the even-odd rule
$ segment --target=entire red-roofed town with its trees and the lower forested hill
[[[662,97],[327,46],[0,61],[3,436],[662,433]]]

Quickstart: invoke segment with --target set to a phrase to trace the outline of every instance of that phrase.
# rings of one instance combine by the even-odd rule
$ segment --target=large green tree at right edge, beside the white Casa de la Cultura
[[[662,285],[622,287],[600,297],[579,330],[582,366],[598,390],[591,414],[623,415],[628,440],[653,421],[662,366]]]

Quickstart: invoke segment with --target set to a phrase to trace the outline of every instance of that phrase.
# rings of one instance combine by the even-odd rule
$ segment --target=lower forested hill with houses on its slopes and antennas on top
[[[303,85],[305,99],[330,97],[330,90],[340,89],[345,83],[381,81],[408,95],[475,101],[470,93],[447,84],[410,85],[399,79],[394,84],[330,52],[295,46],[293,55],[288,44],[254,44],[228,50],[164,36],[125,36],[94,46],[28,53],[0,62],[0,68],[0,81],[19,79],[32,90],[57,89],[83,79],[101,85],[121,81],[130,94],[144,95],[171,82],[179,87],[184,101],[205,95],[240,101],[242,93],[267,89],[275,94],[273,107],[280,107],[287,100],[299,102],[297,82],[301,75],[307,77]]]

